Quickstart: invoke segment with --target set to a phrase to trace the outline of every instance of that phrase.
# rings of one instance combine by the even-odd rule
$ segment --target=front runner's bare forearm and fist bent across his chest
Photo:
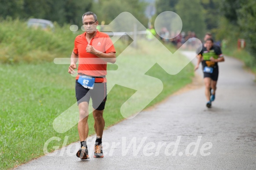
[[[103,53],[101,51],[96,50],[93,46],[91,45],[87,45],[86,47],[86,51],[87,53],[91,53],[96,55],[97,57],[101,58],[102,60],[109,62],[109,63],[115,63],[116,61],[116,57],[115,57],[115,53],[114,52],[110,52],[110,53]]]

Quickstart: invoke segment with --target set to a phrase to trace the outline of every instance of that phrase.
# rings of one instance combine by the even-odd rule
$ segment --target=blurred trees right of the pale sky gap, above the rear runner
[[[256,58],[255,0],[156,0],[155,4],[156,15],[176,12],[183,22],[182,31],[195,31],[199,38],[212,32],[215,39],[226,39],[232,46],[245,39]]]

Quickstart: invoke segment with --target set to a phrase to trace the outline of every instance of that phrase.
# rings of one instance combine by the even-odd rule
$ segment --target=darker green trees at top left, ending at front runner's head
[[[90,11],[93,0],[0,0],[3,18],[41,18],[50,21],[79,24],[82,15]]]

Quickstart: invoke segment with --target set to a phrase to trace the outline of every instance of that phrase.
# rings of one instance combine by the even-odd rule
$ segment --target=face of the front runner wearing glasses
[[[83,28],[85,29],[87,34],[94,34],[97,25],[98,21],[95,22],[93,15],[85,15],[83,17]]]

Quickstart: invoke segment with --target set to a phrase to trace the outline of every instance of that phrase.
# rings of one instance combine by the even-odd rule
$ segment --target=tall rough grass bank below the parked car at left
[[[54,32],[28,28],[24,21],[0,20],[0,63],[40,63],[68,57],[77,34],[55,23]]]

